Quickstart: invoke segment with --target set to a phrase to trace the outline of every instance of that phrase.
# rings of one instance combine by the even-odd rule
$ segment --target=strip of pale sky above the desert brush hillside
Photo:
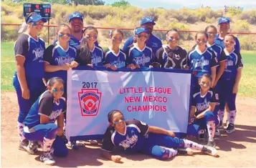
[[[119,0],[104,0],[105,4],[112,4]],[[223,9],[226,6],[240,6],[244,9],[256,9],[256,0],[126,0],[133,6],[140,8],[163,7],[165,9],[181,9],[183,7],[195,9],[199,6],[209,6],[212,9]]]

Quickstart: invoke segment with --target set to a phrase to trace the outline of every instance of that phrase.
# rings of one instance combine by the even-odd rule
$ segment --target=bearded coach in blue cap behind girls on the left
[[[80,49],[80,44],[84,40],[83,37],[83,16],[80,12],[75,11],[68,17],[69,26],[72,30],[72,36],[70,38],[70,45],[75,46],[77,49]],[[98,41],[95,42],[95,45],[98,46]]]

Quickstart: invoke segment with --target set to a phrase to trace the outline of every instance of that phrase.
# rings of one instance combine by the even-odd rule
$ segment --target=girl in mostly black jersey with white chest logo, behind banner
[[[178,46],[179,32],[171,29],[166,33],[167,44],[156,51],[156,60],[161,67],[171,69],[184,69],[186,64],[186,50]]]

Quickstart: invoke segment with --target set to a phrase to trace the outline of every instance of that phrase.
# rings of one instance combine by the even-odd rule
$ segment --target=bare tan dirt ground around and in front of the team
[[[236,132],[216,141],[219,157],[204,154],[176,156],[159,161],[143,154],[120,154],[123,164],[100,157],[100,147],[86,144],[78,151],[70,150],[67,158],[57,158],[54,167],[256,167],[256,99],[238,97]],[[1,167],[46,167],[38,154],[29,155],[18,149],[16,128],[18,105],[14,92],[1,93]],[[224,120],[225,121],[225,120]],[[204,142],[202,142],[204,143]],[[40,154],[40,152],[39,152]]]

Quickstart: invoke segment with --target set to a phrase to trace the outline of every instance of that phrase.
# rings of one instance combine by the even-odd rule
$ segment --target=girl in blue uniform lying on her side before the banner
[[[175,137],[174,132],[159,127],[148,126],[136,119],[125,120],[122,112],[113,110],[108,113],[110,127],[103,137],[103,157],[113,162],[120,162],[121,157],[110,152],[118,147],[123,152],[148,154],[156,159],[169,159],[178,152],[193,154],[192,149],[202,151],[214,157],[217,150]]]

